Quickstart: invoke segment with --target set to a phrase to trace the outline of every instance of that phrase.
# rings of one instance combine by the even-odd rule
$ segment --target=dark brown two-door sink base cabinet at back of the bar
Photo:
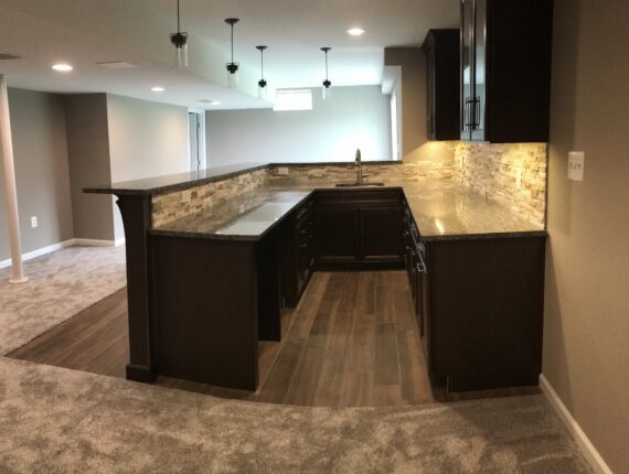
[[[317,268],[401,268],[401,190],[320,191],[314,196]]]

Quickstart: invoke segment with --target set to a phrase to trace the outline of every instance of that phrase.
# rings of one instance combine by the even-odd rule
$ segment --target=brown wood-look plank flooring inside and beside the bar
[[[407,406],[539,391],[456,395],[433,389],[404,271],[316,272],[299,306],[282,314],[282,341],[260,342],[259,353],[255,392],[166,377],[156,384],[222,398],[327,407]],[[125,377],[126,290],[9,357]]]

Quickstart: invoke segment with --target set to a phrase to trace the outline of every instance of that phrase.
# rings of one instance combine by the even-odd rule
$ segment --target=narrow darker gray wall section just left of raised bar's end
[[[111,196],[83,193],[86,186],[111,181],[107,97],[105,94],[66,96],[65,106],[74,237],[114,240]]]

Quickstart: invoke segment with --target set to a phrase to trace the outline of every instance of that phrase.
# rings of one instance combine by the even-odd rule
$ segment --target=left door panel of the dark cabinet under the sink
[[[319,206],[316,222],[319,261],[359,260],[359,231],[354,207]]]

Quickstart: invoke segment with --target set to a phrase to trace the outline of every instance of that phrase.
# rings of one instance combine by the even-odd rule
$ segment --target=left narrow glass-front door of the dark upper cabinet
[[[461,0],[461,140],[471,139],[473,115],[473,0]]]

